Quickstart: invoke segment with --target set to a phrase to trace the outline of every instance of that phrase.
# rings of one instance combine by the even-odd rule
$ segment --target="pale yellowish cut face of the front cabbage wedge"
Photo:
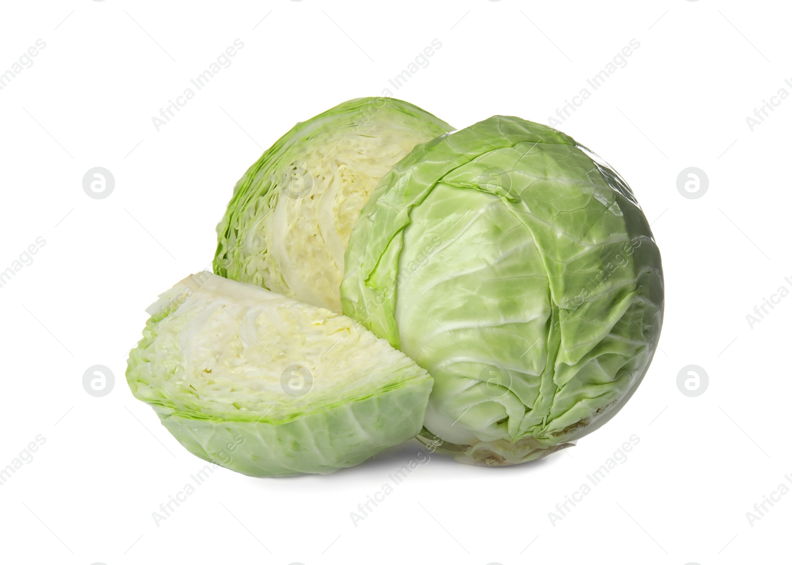
[[[149,313],[135,396],[195,417],[272,422],[429,378],[351,318],[205,271]]]

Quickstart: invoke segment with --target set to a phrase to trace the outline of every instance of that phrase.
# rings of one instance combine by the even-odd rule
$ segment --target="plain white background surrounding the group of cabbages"
[[[6,2],[0,72],[0,486],[6,563],[781,563],[792,494],[789,260],[792,93],[782,2]],[[64,19],[65,18],[65,19]],[[264,18],[262,20],[262,18]],[[244,47],[166,126],[151,121],[234,39]],[[631,39],[640,47],[562,126],[634,189],[661,248],[660,351],[630,403],[532,465],[440,455],[356,525],[350,513],[419,449],[332,476],[257,480],[219,469],[166,521],[152,513],[204,466],[124,382],[154,298],[208,267],[239,176],[295,122],[376,96],[433,39],[394,96],[455,127],[493,114],[547,123]],[[82,177],[105,167],[93,199]],[[709,188],[683,197],[677,176]],[[83,389],[89,366],[115,375]],[[709,385],[680,392],[684,366]],[[700,373],[700,372],[699,372]],[[565,496],[632,434],[628,458],[560,521]],[[25,458],[28,458],[25,456]],[[778,498],[778,497],[777,497]],[[777,553],[780,553],[776,556]]]

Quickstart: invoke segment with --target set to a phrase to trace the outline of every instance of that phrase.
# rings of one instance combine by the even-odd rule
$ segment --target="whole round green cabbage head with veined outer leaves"
[[[657,245],[626,183],[561,132],[493,116],[417,146],[352,239],[344,313],[435,377],[423,435],[460,461],[550,453],[649,366]]]

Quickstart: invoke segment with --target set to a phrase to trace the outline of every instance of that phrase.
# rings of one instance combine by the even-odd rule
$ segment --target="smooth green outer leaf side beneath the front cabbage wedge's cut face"
[[[425,380],[283,423],[158,415],[190,453],[232,471],[260,477],[326,475],[415,437],[431,389],[432,381]]]

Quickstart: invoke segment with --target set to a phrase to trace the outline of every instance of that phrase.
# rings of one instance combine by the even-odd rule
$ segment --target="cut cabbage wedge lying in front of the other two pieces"
[[[432,377],[348,317],[207,271],[147,312],[127,381],[202,459],[326,474],[421,430]]]

